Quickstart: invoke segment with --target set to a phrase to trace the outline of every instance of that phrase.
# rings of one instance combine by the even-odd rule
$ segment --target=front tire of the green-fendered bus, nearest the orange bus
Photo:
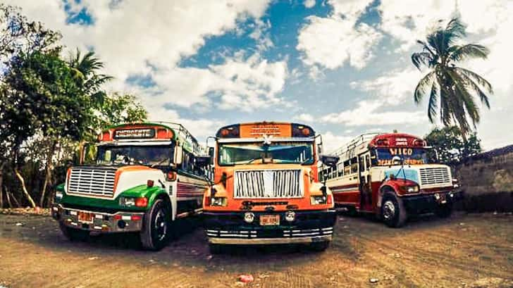
[[[144,215],[140,239],[143,249],[159,251],[171,235],[171,207],[163,199],[156,199]]]

